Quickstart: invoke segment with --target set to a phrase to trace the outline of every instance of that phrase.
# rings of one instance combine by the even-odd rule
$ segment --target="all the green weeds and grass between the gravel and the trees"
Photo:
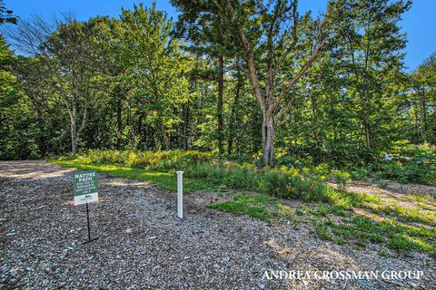
[[[277,218],[287,218],[294,225],[309,221],[318,237],[338,245],[353,243],[365,247],[371,241],[401,253],[421,250],[436,256],[434,198],[408,195],[417,208],[403,208],[395,202],[386,203],[377,195],[346,192],[344,185],[350,175],[326,165],[312,169],[286,165],[259,168],[249,162],[219,160],[211,153],[182,150],[89,150],[52,161],[64,167],[94,169],[114,177],[144,180],[173,191],[176,190],[174,172],[183,169],[186,193],[242,192],[232,199],[212,203],[209,208],[267,222]],[[385,169],[385,172],[388,171]],[[337,189],[326,184],[332,180],[338,185]],[[289,208],[280,198],[300,199],[308,206]],[[314,207],[312,202],[316,202]],[[356,208],[364,209],[370,216],[357,213]]]

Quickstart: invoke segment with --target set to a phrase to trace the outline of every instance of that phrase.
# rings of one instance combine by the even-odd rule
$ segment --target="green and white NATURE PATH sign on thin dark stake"
[[[86,220],[88,223],[88,240],[83,244],[97,239],[91,239],[91,226],[89,222],[88,203],[98,201],[97,172],[81,171],[73,173],[74,206],[86,204]]]

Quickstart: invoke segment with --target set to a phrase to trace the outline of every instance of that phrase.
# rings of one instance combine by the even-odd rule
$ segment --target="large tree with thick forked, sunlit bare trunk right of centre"
[[[291,115],[290,89],[309,69],[327,42],[322,21],[300,16],[297,1],[173,0],[191,24],[218,25],[229,35],[225,47],[244,60],[263,116],[263,161],[273,166],[275,131]],[[214,19],[220,19],[217,23]],[[188,24],[189,24],[188,23]],[[303,50],[304,48],[304,50]]]

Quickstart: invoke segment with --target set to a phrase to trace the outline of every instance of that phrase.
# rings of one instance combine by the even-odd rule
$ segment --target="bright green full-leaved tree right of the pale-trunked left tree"
[[[131,52],[130,62],[137,90],[134,98],[145,121],[153,128],[158,149],[170,150],[170,134],[181,122],[174,111],[190,97],[186,73],[191,60],[183,55],[181,43],[172,37],[173,22],[168,16],[144,5],[121,15],[123,41]]]

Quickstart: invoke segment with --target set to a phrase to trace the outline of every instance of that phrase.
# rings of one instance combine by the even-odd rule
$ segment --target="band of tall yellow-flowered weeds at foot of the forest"
[[[255,191],[280,198],[336,202],[338,196],[344,194],[327,187],[324,184],[326,178],[316,172],[303,172],[285,166],[277,169],[257,168],[251,163],[219,160],[211,153],[200,151],[89,150],[59,159],[63,160],[157,172],[183,169],[187,179],[206,184],[208,188]],[[334,175],[339,182],[346,181],[346,175],[338,172]]]

